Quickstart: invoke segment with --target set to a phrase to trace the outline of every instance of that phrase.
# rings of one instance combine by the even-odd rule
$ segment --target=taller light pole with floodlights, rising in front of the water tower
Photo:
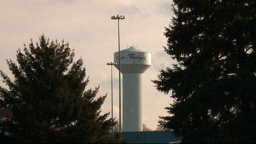
[[[125,19],[124,15],[114,15],[111,19],[118,20],[118,69],[119,69],[119,133],[121,134],[121,73],[120,73],[120,35],[119,35],[119,20]]]

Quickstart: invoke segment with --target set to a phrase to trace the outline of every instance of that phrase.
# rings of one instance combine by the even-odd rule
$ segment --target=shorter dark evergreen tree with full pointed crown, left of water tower
[[[17,63],[7,60],[12,81],[0,71],[8,88],[0,87],[1,109],[12,118],[1,119],[0,132],[7,142],[114,143],[108,137],[116,124],[100,115],[106,95],[95,98],[99,87],[86,90],[88,78],[82,59],[64,41],[40,36],[39,43],[17,51]]]

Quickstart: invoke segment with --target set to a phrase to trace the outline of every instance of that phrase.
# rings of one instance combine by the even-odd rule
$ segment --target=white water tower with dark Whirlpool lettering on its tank
[[[119,64],[118,52],[114,62]],[[151,52],[135,47],[120,51],[122,73],[122,128],[125,132],[142,131],[142,79],[141,75],[151,66]],[[118,68],[118,65],[115,65]]]

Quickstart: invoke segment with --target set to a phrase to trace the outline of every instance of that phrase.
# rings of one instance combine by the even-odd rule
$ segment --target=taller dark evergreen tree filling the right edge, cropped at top
[[[178,65],[153,82],[174,102],[159,124],[182,142],[256,142],[256,2],[173,2],[164,51]]]

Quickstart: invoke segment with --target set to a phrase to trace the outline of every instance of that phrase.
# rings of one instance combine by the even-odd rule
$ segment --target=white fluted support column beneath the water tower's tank
[[[142,131],[141,73],[122,74],[122,127]]]

